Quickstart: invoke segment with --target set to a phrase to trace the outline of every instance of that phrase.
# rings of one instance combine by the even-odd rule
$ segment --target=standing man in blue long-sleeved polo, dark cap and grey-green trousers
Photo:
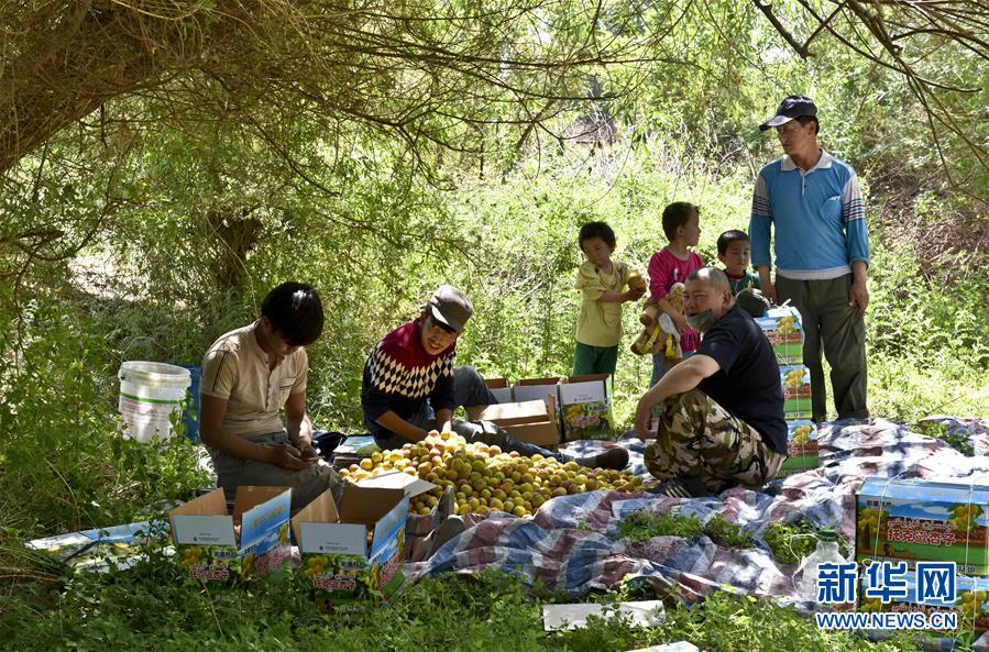
[[[783,156],[756,177],[749,221],[752,265],[762,292],[777,302],[789,299],[802,317],[814,421],[824,421],[827,413],[822,343],[838,418],[866,419],[869,234],[858,176],[817,146],[817,107],[810,98],[787,97],[776,115],[759,125],[760,131],[770,128]]]

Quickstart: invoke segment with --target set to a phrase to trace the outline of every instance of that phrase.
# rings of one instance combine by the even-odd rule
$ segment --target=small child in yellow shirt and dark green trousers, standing
[[[646,281],[626,263],[612,261],[615,232],[605,222],[581,226],[578,242],[587,261],[578,269],[574,284],[582,301],[573,375],[614,374],[622,342],[622,303],[646,294]]]

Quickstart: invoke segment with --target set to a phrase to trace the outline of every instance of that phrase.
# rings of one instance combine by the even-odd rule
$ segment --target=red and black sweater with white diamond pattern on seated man
[[[422,409],[427,399],[433,410],[455,407],[453,398],[453,357],[457,343],[439,355],[422,347],[419,322],[395,329],[377,343],[364,363],[361,407],[371,434],[389,433],[377,423],[388,410],[409,419]]]

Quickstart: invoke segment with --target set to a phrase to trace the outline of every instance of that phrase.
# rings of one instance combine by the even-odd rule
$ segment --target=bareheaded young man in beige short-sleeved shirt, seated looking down
[[[340,486],[312,446],[306,413],[304,346],[319,338],[322,324],[316,290],[284,283],[262,301],[261,319],[221,335],[206,353],[200,435],[228,498],[241,485],[292,487],[297,510]]]

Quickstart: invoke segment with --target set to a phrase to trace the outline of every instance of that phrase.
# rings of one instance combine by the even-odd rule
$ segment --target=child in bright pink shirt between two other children
[[[690,247],[697,246],[701,239],[700,220],[701,209],[686,201],[674,201],[663,209],[662,231],[670,244],[652,254],[648,267],[651,298],[670,316],[680,331],[680,346],[684,357],[697,350],[701,334],[686,325],[686,318],[670,305],[667,292],[674,283],[683,283],[688,274],[704,266],[701,256],[690,251]],[[649,386],[656,385],[666,373],[666,354],[653,355]]]

